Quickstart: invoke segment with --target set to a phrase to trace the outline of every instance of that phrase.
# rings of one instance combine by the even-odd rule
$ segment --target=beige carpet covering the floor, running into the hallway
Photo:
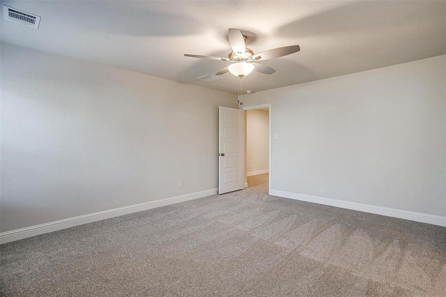
[[[251,187],[5,244],[1,296],[446,296],[446,228]]]

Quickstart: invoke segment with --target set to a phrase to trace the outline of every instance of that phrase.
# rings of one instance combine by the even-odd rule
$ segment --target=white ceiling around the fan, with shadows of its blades
[[[42,17],[39,29],[1,18],[1,41],[237,94],[237,78],[215,74],[228,62],[228,28],[260,52],[300,45],[263,61],[242,89],[255,92],[446,53],[446,1],[4,1]]]

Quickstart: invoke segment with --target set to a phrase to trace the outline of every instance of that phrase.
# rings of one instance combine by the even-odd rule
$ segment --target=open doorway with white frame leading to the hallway
[[[270,104],[244,106],[245,188],[270,187]]]

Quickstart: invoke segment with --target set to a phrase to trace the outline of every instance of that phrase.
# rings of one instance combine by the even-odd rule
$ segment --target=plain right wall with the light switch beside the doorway
[[[272,189],[445,216],[445,71],[442,55],[243,96],[271,103]]]

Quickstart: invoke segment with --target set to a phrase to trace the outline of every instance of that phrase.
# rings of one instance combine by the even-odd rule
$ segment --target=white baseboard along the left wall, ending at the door
[[[78,225],[82,225],[82,224],[96,222],[96,221],[100,221],[103,219],[108,219],[108,218],[132,213],[132,212],[147,210],[147,209],[165,206],[165,205],[169,205],[169,204],[174,204],[174,203],[178,203],[178,202],[183,202],[183,201],[187,201],[187,200],[211,196],[211,195],[217,194],[217,190],[218,189],[210,189],[210,190],[206,190],[206,191],[201,191],[201,192],[196,192],[196,193],[191,193],[191,194],[186,194],[186,195],[181,195],[181,196],[175,196],[175,197],[170,197],[170,198],[164,198],[164,199],[159,199],[159,200],[154,200],[154,201],[149,201],[149,202],[144,202],[144,203],[139,203],[139,204],[133,204],[133,205],[129,205],[129,206],[118,207],[118,208],[99,211],[99,212],[95,212],[95,213],[84,214],[84,215],[80,215],[77,217],[72,217],[72,218],[63,219],[63,220],[59,220],[59,221],[53,221],[53,222],[49,222],[49,223],[45,223],[45,224],[25,227],[25,228],[11,230],[11,231],[6,231],[6,232],[0,233],[0,244],[5,244],[5,243],[9,243],[9,242],[16,241],[19,239],[24,239],[27,237],[36,236],[36,235],[40,235],[40,234],[44,234],[44,233],[49,233],[49,232],[53,232],[53,231],[57,231],[57,230],[65,229],[65,228],[70,228],[70,227],[74,227],[74,226],[78,226]]]

